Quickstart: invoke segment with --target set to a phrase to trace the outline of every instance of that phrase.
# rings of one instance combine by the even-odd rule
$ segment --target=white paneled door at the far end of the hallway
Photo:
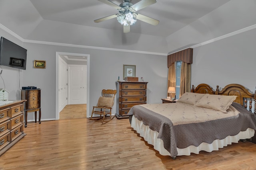
[[[87,66],[68,65],[69,104],[87,103]]]

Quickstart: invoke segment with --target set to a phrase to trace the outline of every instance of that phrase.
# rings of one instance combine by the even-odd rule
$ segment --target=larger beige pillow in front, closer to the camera
[[[236,97],[237,96],[205,94],[194,106],[214,109],[226,113]]]

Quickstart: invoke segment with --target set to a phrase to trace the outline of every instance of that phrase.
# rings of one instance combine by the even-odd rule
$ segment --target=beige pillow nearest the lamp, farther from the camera
[[[200,100],[205,94],[200,93],[192,93],[192,92],[185,92],[180,96],[177,102],[181,102],[184,104],[194,105]]]

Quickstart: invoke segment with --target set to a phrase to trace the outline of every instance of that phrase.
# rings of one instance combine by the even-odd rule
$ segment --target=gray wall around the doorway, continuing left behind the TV
[[[0,36],[18,43],[18,39],[0,30]],[[44,45],[37,43],[19,44],[27,52],[27,68],[19,70],[3,67],[2,76],[5,80],[6,90],[11,92],[10,100],[20,99],[22,86],[36,86],[41,88],[42,120],[55,119],[55,67],[56,51],[65,53],[79,53],[90,55],[90,108],[96,105],[102,89],[116,89],[115,81],[118,76],[122,79],[123,64],[136,65],[136,76],[143,77],[148,83],[148,103],[161,103],[165,98],[167,89],[167,57],[161,55],[149,55],[130,52],[107,51],[98,49],[84,49],[76,47],[63,47],[56,45]],[[34,60],[45,60],[46,68],[33,68]],[[10,77],[14,77],[10,79]],[[20,81],[19,81],[20,80]],[[0,82],[0,87],[3,83]],[[115,106],[113,113],[116,112]],[[34,114],[28,114],[28,120],[34,119]]]

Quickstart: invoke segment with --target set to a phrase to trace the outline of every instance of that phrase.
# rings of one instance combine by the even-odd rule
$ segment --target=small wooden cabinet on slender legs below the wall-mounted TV
[[[27,100],[24,110],[25,110],[25,127],[27,127],[28,112],[35,112],[35,122],[36,113],[39,111],[39,124],[41,123],[41,89],[28,89],[21,90],[21,99]]]

